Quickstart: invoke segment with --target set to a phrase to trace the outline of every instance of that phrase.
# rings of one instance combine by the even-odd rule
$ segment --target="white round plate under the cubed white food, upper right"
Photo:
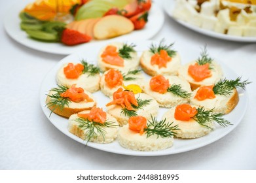
[[[177,20],[172,16],[172,12],[175,7],[175,0],[164,0],[163,3],[163,8],[164,11],[173,18],[176,22],[179,24],[196,31],[198,33],[201,33],[203,35],[208,35],[210,37],[214,37],[217,39],[223,39],[223,40],[228,40],[228,41],[236,41],[236,42],[256,42],[256,37],[238,37],[238,36],[232,36],[232,35],[226,35],[226,34],[221,34],[221,33],[216,33],[214,31],[208,30],[208,29],[202,29],[201,27],[196,27],[195,25],[191,25],[188,22],[184,22],[182,20]]]

